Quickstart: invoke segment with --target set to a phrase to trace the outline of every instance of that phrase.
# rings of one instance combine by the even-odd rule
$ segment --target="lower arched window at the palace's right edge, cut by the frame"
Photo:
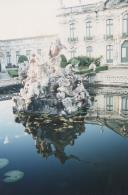
[[[121,47],[121,61],[128,63],[128,41],[124,41]]]

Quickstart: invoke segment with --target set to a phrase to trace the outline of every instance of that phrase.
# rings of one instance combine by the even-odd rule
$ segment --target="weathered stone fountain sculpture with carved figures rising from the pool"
[[[15,112],[38,112],[49,115],[74,114],[89,105],[89,95],[81,76],[72,65],[61,69],[60,52],[64,46],[59,40],[52,44],[49,59],[40,63],[33,54],[23,81],[20,96],[14,98]]]

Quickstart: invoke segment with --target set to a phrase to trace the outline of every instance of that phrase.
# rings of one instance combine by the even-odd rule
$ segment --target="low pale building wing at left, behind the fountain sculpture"
[[[33,52],[42,57],[47,56],[50,44],[55,38],[56,35],[47,35],[1,40],[0,69],[4,71],[6,66],[17,65],[20,55],[25,55],[28,59]]]

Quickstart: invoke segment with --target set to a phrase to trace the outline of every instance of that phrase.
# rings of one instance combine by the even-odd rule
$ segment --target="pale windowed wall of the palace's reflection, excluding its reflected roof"
[[[128,89],[105,87],[96,89],[96,97],[89,113],[99,117],[128,117]]]

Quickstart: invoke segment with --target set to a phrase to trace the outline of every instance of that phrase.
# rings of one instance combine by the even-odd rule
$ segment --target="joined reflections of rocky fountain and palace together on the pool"
[[[106,126],[121,136],[128,136],[127,91],[118,88],[93,89],[92,106],[85,116],[64,118],[20,113],[15,120],[32,135],[37,152],[44,158],[53,155],[62,164],[69,159],[79,160],[74,155],[67,155],[65,147],[74,145],[88,123]]]

